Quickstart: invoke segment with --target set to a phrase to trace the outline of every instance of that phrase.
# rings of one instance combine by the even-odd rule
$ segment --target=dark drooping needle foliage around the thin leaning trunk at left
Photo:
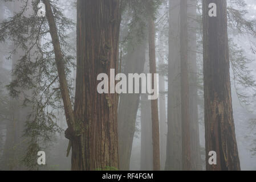
[[[21,10],[0,24],[0,41],[13,43],[9,59],[17,53],[20,56],[15,60],[13,80],[7,88],[11,97],[17,98],[22,94],[23,106],[32,107],[24,133],[25,137],[31,139],[24,162],[32,169],[36,160],[32,160],[31,156],[36,157],[40,144],[50,141],[52,134],[62,131],[55,115],[57,110],[63,109],[63,104],[48,22],[37,14],[40,1],[29,2],[21,1]],[[72,96],[71,72],[75,66],[75,56],[74,46],[67,39],[75,24],[63,15],[57,1],[51,3]],[[27,15],[26,12],[31,9],[32,14]]]

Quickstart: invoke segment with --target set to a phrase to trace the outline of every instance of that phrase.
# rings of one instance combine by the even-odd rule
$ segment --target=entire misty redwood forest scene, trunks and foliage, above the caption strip
[[[1,170],[256,170],[255,0],[39,2],[0,2]],[[110,68],[159,99],[98,94]]]

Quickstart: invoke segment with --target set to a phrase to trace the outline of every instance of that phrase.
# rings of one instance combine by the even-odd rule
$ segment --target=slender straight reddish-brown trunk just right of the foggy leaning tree
[[[153,74],[156,73],[156,47],[155,47],[155,22],[149,18],[149,70],[152,73],[152,85],[154,85]],[[156,89],[156,88],[155,88]],[[157,100],[151,101],[152,114],[152,141],[153,141],[153,170],[160,170],[160,138],[159,138],[159,113]]]

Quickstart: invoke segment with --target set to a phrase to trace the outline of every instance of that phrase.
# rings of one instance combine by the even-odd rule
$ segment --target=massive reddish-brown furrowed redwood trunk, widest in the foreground
[[[83,131],[72,139],[72,170],[119,168],[117,94],[97,93],[97,75],[118,72],[119,13],[118,0],[78,0],[74,113]]]

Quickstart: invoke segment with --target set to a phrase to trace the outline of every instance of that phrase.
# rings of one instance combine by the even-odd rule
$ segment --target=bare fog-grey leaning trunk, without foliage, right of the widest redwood
[[[125,59],[124,74],[142,73],[145,64],[146,42],[137,42],[136,32],[128,48]],[[140,94],[121,94],[118,109],[119,134],[119,165],[121,170],[129,170],[132,143],[136,127],[136,116],[139,107]]]

